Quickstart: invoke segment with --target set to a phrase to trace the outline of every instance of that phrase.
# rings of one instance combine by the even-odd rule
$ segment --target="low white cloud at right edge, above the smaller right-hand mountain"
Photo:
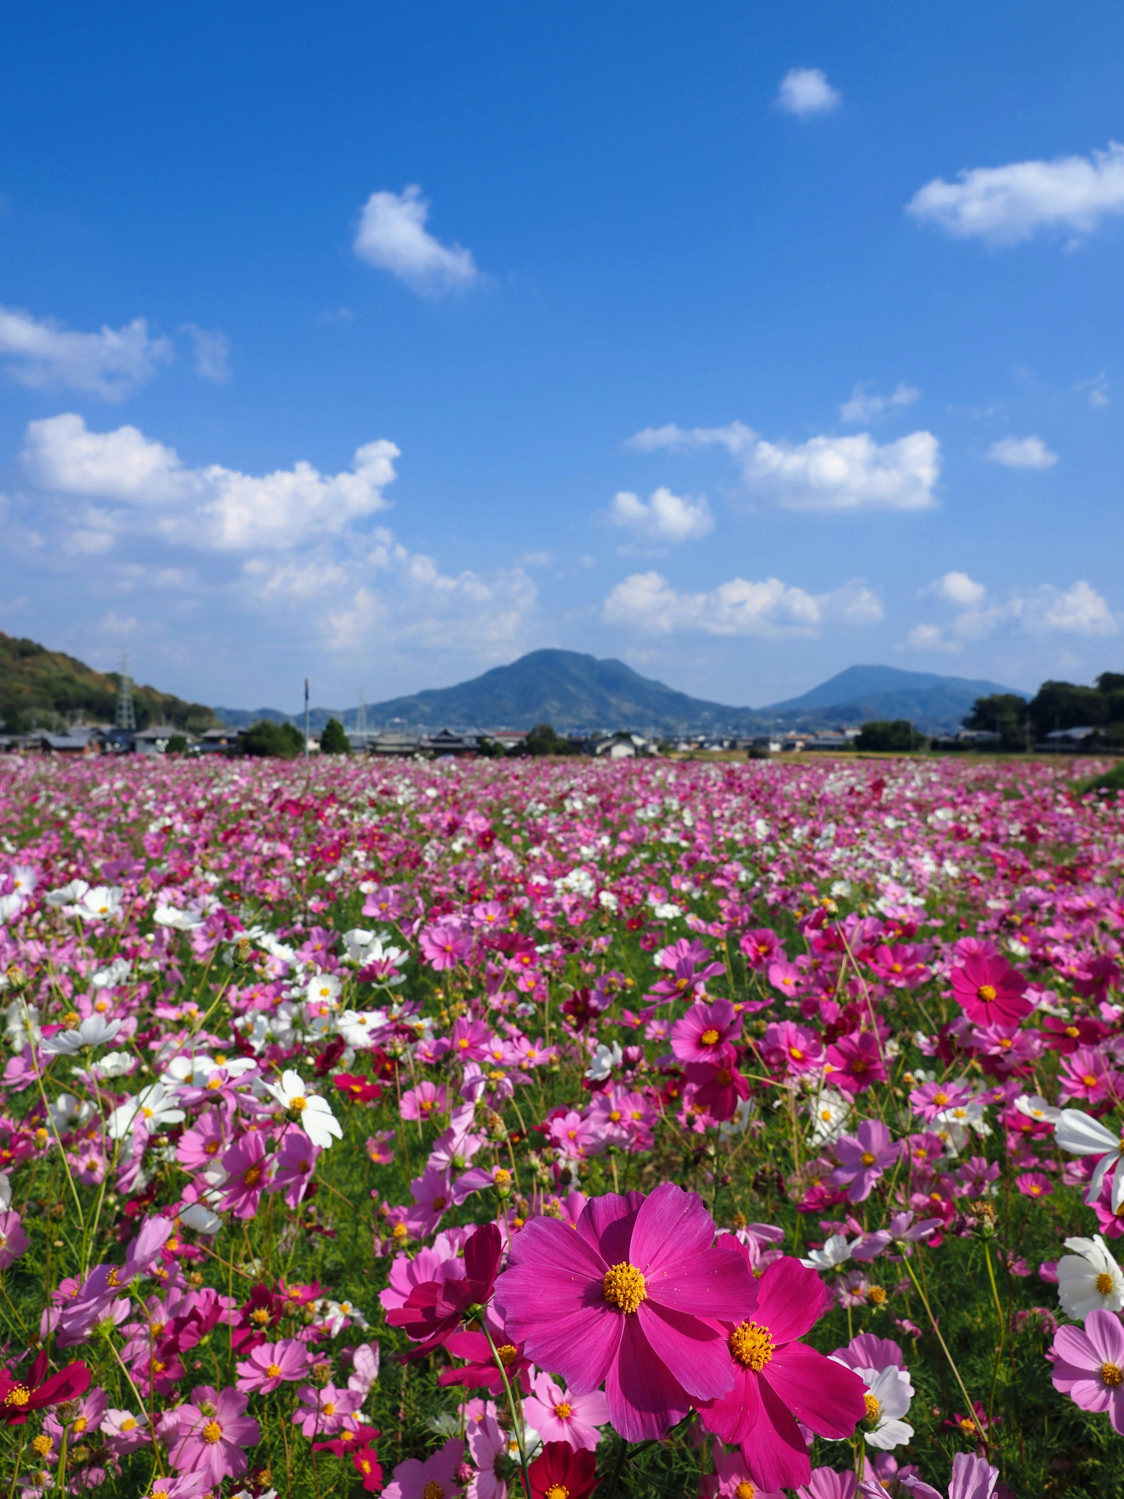
[[[1052,583],[1013,588],[1004,597],[992,597],[983,583],[967,573],[946,573],[922,589],[922,597],[947,604],[952,619],[914,625],[908,633],[914,651],[958,652],[965,642],[986,640],[1000,630],[1088,639],[1120,633],[1120,622],[1108,601],[1084,580],[1070,588]]]

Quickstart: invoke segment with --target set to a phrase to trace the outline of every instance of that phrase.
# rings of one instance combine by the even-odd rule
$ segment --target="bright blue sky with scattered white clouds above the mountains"
[[[1120,669],[1118,6],[24,6],[0,630],[349,706]]]

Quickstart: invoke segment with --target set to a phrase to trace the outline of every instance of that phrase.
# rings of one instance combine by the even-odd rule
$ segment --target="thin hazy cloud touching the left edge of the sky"
[[[121,400],[175,358],[165,337],[150,337],[144,318],[123,328],[72,333],[54,319],[0,307],[0,357],[12,379],[37,390],[70,387],[103,400]]]

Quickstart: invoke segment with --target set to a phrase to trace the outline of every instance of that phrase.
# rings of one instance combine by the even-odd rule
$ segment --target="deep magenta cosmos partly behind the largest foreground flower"
[[[742,1444],[758,1487],[794,1489],[812,1472],[796,1423],[836,1442],[851,1436],[866,1415],[866,1385],[797,1342],[823,1310],[824,1288],[815,1271],[796,1259],[775,1259],[757,1294],[749,1321],[722,1319],[733,1388],[698,1411],[709,1432]]]

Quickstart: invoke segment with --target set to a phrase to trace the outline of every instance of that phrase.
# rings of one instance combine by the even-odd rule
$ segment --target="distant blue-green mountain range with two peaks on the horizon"
[[[372,729],[531,729],[550,723],[562,733],[632,729],[668,736],[691,730],[751,735],[766,729],[829,729],[908,718],[923,733],[941,733],[956,729],[977,697],[1012,691],[998,682],[962,676],[853,666],[802,697],[764,708],[730,708],[676,693],[623,661],[598,661],[577,651],[532,651],[471,682],[372,703],[366,714]],[[303,717],[273,708],[214,712],[231,729],[261,718],[301,723]],[[316,708],[309,715],[310,726],[319,730],[331,717],[355,729],[358,709]]]

